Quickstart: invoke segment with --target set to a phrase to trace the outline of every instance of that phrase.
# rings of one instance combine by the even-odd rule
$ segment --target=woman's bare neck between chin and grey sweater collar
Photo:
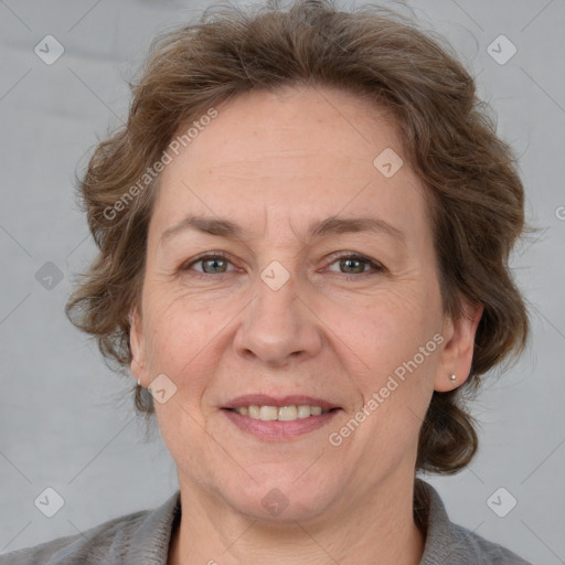
[[[414,522],[414,479],[379,490],[330,516],[274,523],[245,516],[191,483],[181,484],[183,510],[168,565],[418,565],[425,535]]]

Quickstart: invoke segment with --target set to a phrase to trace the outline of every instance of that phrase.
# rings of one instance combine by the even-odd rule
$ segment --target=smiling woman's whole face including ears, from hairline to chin
[[[424,188],[384,111],[332,89],[217,110],[161,174],[131,369],[166,375],[181,490],[263,519],[345,514],[412,484],[478,320],[443,316]],[[404,164],[375,167],[387,149]]]

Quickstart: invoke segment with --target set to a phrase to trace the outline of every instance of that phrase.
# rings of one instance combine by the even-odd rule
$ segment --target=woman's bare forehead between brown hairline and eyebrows
[[[189,213],[237,218],[257,236],[267,218],[276,230],[289,220],[306,226],[372,212],[408,232],[425,227],[419,180],[395,124],[374,104],[305,88],[246,94],[216,110],[161,174],[152,218],[159,231]],[[392,177],[383,159],[399,167]]]

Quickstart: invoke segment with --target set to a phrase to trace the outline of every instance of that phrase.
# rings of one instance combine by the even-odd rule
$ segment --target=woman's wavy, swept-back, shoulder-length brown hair
[[[457,472],[478,448],[467,395],[526,344],[527,313],[508,265],[525,231],[524,193],[512,149],[451,47],[394,12],[371,6],[344,12],[332,0],[286,9],[220,6],[157,38],[132,85],[127,122],[96,147],[79,181],[99,250],[67,316],[125,371],[159,180],[146,178],[149,170],[181,127],[214,106],[300,86],[340,88],[391,113],[425,186],[444,312],[457,319],[466,305],[483,307],[469,377],[451,392],[434,392],[419,434],[416,470]],[[140,414],[154,411],[140,386],[135,405]]]

